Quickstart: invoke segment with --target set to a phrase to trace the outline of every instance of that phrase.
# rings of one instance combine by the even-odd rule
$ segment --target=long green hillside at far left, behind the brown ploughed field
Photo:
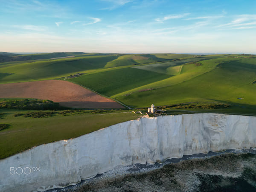
[[[103,68],[116,55],[60,58],[47,61],[1,64],[0,83],[38,81],[69,76],[85,70]]]

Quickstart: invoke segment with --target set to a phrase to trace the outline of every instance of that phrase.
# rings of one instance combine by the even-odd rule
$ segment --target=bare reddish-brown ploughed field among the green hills
[[[49,99],[71,108],[124,108],[77,84],[60,80],[0,84],[0,98]]]

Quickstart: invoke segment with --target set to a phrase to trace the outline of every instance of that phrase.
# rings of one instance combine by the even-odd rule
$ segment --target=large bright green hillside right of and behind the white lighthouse
[[[207,64],[207,62],[210,63]],[[177,84],[170,86],[165,84],[166,87],[146,92],[116,96],[116,99],[133,107],[146,107],[151,103],[159,106],[198,101],[256,105],[256,87],[255,84],[252,84],[256,77],[255,58],[223,58],[201,61],[201,63],[202,66],[183,66],[184,69],[178,75],[192,73],[195,70],[197,71],[196,76],[192,79],[185,81],[180,79],[181,82]],[[192,69],[186,69],[186,67],[192,67]],[[201,69],[200,75],[198,75],[200,71],[198,69]],[[168,83],[166,79],[163,81]]]

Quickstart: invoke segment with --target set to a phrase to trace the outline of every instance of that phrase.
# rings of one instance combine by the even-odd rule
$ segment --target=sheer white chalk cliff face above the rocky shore
[[[256,147],[253,116],[203,113],[143,118],[0,160],[0,189],[44,191],[79,183],[117,165],[250,147]],[[26,167],[40,169],[29,173]],[[22,169],[26,174],[20,174]]]

